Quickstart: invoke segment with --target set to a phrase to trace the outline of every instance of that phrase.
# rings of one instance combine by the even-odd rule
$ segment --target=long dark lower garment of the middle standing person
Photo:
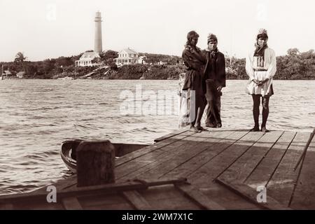
[[[217,85],[213,80],[206,80],[207,83],[207,104],[206,124],[217,125],[221,123],[221,92],[217,90]]]

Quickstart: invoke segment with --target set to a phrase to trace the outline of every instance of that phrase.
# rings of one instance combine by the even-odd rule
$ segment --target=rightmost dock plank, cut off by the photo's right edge
[[[315,138],[309,144],[290,207],[315,209]]]

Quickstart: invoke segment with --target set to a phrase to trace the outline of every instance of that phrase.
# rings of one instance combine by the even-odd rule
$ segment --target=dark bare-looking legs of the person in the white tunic
[[[253,119],[255,122],[255,127],[259,127],[259,106],[260,98],[262,98],[262,124],[261,127],[266,127],[268,115],[269,115],[269,96],[262,97],[260,94],[252,94],[253,97]]]

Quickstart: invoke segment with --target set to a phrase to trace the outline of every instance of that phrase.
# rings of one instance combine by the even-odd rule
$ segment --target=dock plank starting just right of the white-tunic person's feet
[[[243,183],[282,134],[283,132],[268,132],[263,135],[253,146],[248,148],[246,153],[241,155],[235,163],[221,174],[220,179],[228,183]]]

